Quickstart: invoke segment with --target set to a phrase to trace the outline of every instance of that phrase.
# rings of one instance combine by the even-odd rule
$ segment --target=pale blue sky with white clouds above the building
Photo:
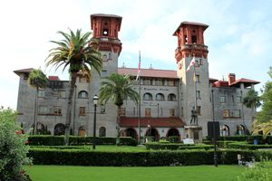
[[[270,0],[5,0],[0,3],[0,105],[16,109],[19,77],[15,70],[40,68],[68,80],[66,71],[45,68],[61,40],[58,31],[92,32],[91,14],[122,17],[119,66],[176,70],[172,34],[181,22],[209,24],[204,33],[209,46],[209,77],[260,81],[272,66],[272,1]]]

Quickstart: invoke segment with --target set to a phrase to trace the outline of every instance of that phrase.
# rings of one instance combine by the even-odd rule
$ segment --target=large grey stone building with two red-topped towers
[[[118,68],[121,16],[92,14],[91,26],[92,38],[98,41],[102,52],[102,77],[119,72],[136,78],[137,68]],[[228,81],[209,78],[209,51],[203,36],[208,27],[207,24],[182,22],[173,33],[178,39],[177,70],[141,69],[141,85],[139,81],[135,85],[135,90],[141,92],[141,107],[131,100],[125,101],[121,109],[122,136],[152,136],[155,140],[170,136],[201,139],[202,135],[208,135],[208,122],[212,120],[219,121],[221,135],[250,131],[255,110],[246,108],[242,100],[259,82],[237,80],[233,73],[228,75]],[[189,64],[193,65],[187,71]],[[35,89],[27,84],[31,70],[15,71],[20,77],[18,122],[24,129],[34,125]],[[40,133],[47,129],[53,135],[60,135],[64,133],[69,81],[60,81],[56,76],[49,76],[48,80],[48,86],[38,91],[37,129]],[[100,82],[97,73],[93,73],[91,80],[78,73],[71,126],[74,135],[92,135],[92,97],[98,95]],[[192,110],[196,111],[197,120],[191,120]],[[117,107],[112,102],[98,105],[97,135],[115,137],[116,118]],[[193,130],[193,135],[189,134],[189,129]]]

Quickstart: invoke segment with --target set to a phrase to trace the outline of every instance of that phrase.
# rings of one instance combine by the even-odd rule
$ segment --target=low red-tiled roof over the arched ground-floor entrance
[[[121,117],[120,125],[121,127],[138,127],[139,126],[138,118],[128,118]],[[177,128],[184,127],[184,122],[180,118],[141,118],[141,127],[168,127],[168,128]]]

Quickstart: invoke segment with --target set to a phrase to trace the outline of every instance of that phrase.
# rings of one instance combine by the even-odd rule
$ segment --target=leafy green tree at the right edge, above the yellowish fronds
[[[272,79],[272,67],[270,67],[268,75]],[[260,100],[262,101],[262,107],[257,114],[257,120],[259,122],[267,122],[272,120],[272,81],[267,81],[261,92]]]

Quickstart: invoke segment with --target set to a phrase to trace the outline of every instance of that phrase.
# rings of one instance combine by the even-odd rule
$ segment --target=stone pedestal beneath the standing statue
[[[202,127],[197,125],[185,126],[185,138],[190,138],[194,140],[194,143],[202,143]]]

